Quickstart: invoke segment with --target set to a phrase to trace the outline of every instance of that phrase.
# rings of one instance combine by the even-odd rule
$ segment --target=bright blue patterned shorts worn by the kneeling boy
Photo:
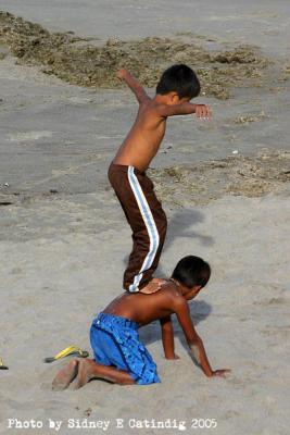
[[[161,382],[136,322],[101,312],[92,322],[90,343],[96,362],[125,370],[140,385]]]

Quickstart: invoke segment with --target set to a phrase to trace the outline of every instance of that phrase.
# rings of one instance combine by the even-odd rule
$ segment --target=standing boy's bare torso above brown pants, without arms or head
[[[166,128],[166,117],[159,114],[160,104],[147,96],[140,102],[136,121],[122,144],[113,163],[135,166],[143,172],[156,154]]]

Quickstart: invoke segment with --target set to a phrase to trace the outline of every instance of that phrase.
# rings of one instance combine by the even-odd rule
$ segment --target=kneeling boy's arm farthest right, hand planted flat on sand
[[[176,308],[176,315],[182,331],[185,333],[190,352],[198,364],[201,366],[203,373],[209,376],[223,376],[225,377],[227,372],[230,372],[228,369],[222,370],[212,370],[210,361],[207,360],[205,349],[202,343],[202,339],[197,334],[194,326],[192,324],[190,318],[189,307],[186,300],[179,300],[177,302],[178,307]]]

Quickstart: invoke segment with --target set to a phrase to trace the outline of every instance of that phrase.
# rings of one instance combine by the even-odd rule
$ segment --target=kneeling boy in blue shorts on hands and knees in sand
[[[161,289],[151,295],[125,293],[115,298],[94,319],[90,330],[94,360],[73,360],[55,376],[53,389],[64,389],[76,377],[76,388],[92,378],[121,385],[160,382],[156,365],[140,343],[138,328],[160,320],[166,359],[176,359],[172,314],[185,333],[190,352],[204,374],[225,376],[227,369],[212,370],[190,318],[188,301],[205,286],[210,265],[199,257],[188,256],[176,265],[169,279],[160,279]]]

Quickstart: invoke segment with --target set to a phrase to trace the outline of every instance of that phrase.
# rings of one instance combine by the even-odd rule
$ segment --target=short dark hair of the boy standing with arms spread
[[[193,98],[200,94],[200,80],[194,71],[184,64],[173,65],[164,71],[156,87],[156,94],[177,92],[179,98]]]

